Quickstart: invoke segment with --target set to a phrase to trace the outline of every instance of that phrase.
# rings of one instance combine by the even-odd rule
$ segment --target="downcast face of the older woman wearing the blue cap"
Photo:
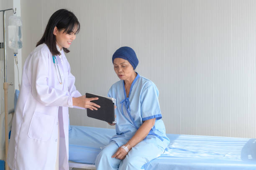
[[[113,65],[115,73],[121,80],[131,79],[134,74],[133,66],[123,58],[115,58]]]

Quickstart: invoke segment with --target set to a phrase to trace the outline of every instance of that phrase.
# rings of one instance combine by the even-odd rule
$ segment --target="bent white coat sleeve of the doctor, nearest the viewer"
[[[73,107],[72,96],[69,91],[56,89],[47,84],[51,57],[44,51],[38,51],[31,56],[26,68],[28,79],[31,78],[33,97],[46,106]],[[51,81],[51,80],[49,80]]]

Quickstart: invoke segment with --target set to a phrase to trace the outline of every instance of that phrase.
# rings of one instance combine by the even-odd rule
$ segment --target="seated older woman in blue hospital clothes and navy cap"
[[[134,71],[136,53],[121,47],[112,57],[120,81],[113,84],[109,97],[116,99],[116,135],[96,158],[97,170],[138,170],[159,157],[169,144],[159,107],[156,85]]]

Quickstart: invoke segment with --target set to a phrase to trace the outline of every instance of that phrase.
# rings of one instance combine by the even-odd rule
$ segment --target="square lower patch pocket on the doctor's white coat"
[[[35,112],[28,130],[28,137],[48,141],[51,138],[54,119],[54,116]]]

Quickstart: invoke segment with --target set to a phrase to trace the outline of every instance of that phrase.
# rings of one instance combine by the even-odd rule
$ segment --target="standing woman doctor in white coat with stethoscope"
[[[79,28],[72,12],[57,10],[24,63],[8,151],[12,170],[68,170],[68,108],[100,107],[76,90],[64,54]]]

